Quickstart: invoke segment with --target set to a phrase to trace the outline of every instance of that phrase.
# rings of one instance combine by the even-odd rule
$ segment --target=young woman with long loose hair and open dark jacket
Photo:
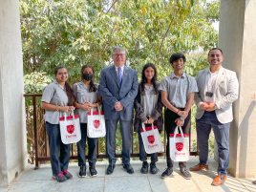
[[[145,124],[145,127],[151,126],[152,123],[154,123],[159,131],[162,130],[162,104],[157,77],[158,72],[156,66],[153,63],[145,64],[141,73],[139,93],[135,99],[136,116],[134,130],[138,132],[139,135],[139,160],[142,161],[142,167],[140,169],[142,174],[148,173],[147,154],[140,135],[142,123]],[[156,165],[157,161],[158,154],[151,154],[151,174],[157,174],[159,172]]]

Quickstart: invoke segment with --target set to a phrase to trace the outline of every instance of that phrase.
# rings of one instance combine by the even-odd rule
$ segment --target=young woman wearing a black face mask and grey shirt
[[[86,139],[88,142],[88,161],[89,172],[92,177],[96,176],[96,149],[97,139],[87,137],[87,113],[98,107],[100,97],[97,95],[97,85],[94,83],[94,69],[92,66],[84,65],[81,68],[82,81],[77,82],[73,86],[75,93],[75,108],[80,119],[81,139],[77,142],[78,166],[80,167],[78,176],[86,177],[86,156],[85,147]]]

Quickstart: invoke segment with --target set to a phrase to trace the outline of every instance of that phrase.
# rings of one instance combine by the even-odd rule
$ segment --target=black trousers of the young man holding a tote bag
[[[183,109],[180,109],[183,110]],[[184,134],[189,134],[190,132],[190,126],[191,126],[191,121],[190,121],[190,115],[191,113],[189,112],[188,116],[184,119],[184,124],[181,127],[182,131]],[[166,137],[167,137],[167,144],[166,144],[166,161],[167,161],[167,166],[172,168],[173,167],[173,160],[170,158],[170,148],[169,148],[169,135],[174,134],[174,130],[177,127],[175,120],[179,118],[178,114],[174,113],[173,111],[167,109],[165,110],[164,113],[164,129],[166,132]],[[179,162],[180,167],[181,166],[186,166],[186,162]]]

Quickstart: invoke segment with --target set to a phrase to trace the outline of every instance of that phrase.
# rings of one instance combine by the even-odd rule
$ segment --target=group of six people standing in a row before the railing
[[[54,71],[55,80],[45,87],[42,96],[42,108],[45,109],[46,130],[49,136],[53,179],[66,181],[72,178],[68,171],[70,145],[63,144],[60,139],[58,117],[63,112],[76,111],[80,119],[81,139],[77,142],[78,176],[86,177],[86,139],[88,142],[88,161],[90,175],[96,176],[96,145],[97,139],[88,138],[87,112],[103,105],[106,123],[106,154],[109,165],[106,174],[110,175],[116,167],[116,133],[119,123],[122,137],[122,166],[133,174],[130,163],[131,129],[139,136],[139,160],[142,161],[142,174],[157,174],[156,162],[158,154],[150,155],[147,161],[142,139],[141,127],[156,125],[159,132],[163,124],[167,136],[166,163],[167,168],[161,178],[173,173],[173,160],[170,158],[168,136],[181,126],[184,134],[190,131],[190,109],[197,105],[197,139],[199,164],[190,167],[190,171],[207,170],[208,139],[213,129],[219,152],[218,175],[213,185],[221,185],[226,181],[226,169],[229,162],[229,127],[232,121],[232,102],[238,98],[238,79],[234,72],[224,69],[223,51],[213,48],[208,53],[209,67],[200,71],[196,78],[184,72],[186,58],[183,53],[173,53],[169,62],[173,73],[158,81],[158,71],[153,63],[143,66],[141,82],[137,72],[126,66],[126,52],[115,47],[112,53],[114,65],[104,68],[100,74],[99,85],[94,82],[94,69],[85,65],[81,69],[82,80],[73,88],[68,84],[68,71],[65,67],[57,67]],[[164,107],[164,120],[162,108]],[[135,110],[135,117],[133,112]],[[133,122],[134,119],[134,122]],[[164,123],[163,123],[164,122]],[[172,149],[171,149],[172,150]],[[186,162],[179,162],[181,175],[190,179],[191,174]]]

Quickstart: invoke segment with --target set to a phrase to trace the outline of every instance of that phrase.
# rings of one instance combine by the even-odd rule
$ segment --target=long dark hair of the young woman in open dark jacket
[[[155,94],[158,94],[158,85],[157,85],[157,80],[158,80],[158,71],[157,71],[157,68],[156,66],[153,64],[153,63],[147,63],[144,65],[143,69],[142,69],[142,72],[141,72],[141,82],[140,82],[140,92],[141,93],[144,93],[145,91],[145,84],[147,82],[147,78],[145,76],[145,71],[147,68],[151,67],[153,70],[154,70],[154,76],[153,78],[151,79],[151,82],[153,84],[153,87],[154,87],[154,91],[155,91]]]

